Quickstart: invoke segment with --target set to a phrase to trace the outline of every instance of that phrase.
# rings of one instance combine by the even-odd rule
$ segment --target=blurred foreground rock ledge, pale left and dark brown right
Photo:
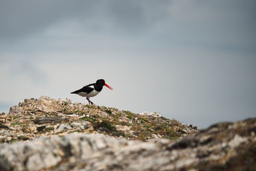
[[[256,119],[215,124],[179,140],[77,133],[0,145],[2,170],[256,170]]]

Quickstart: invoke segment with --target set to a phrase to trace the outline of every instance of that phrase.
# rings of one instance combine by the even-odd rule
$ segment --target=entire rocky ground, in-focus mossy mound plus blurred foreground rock
[[[156,113],[65,102],[26,100],[1,115],[0,170],[256,170],[256,118],[194,134],[193,126]],[[125,130],[124,123],[132,125]],[[27,138],[15,139],[21,131]],[[10,141],[4,133],[13,133]]]

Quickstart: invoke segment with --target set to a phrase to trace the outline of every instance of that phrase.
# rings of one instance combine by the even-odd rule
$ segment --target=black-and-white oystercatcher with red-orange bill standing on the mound
[[[86,97],[89,102],[89,105],[93,105],[92,101],[90,101],[90,97],[96,96],[100,93],[103,88],[103,85],[106,85],[109,89],[113,90],[108,84],[105,83],[105,80],[100,79],[97,80],[96,83],[89,84],[84,86],[83,88],[72,92],[71,94],[78,94],[79,96]]]

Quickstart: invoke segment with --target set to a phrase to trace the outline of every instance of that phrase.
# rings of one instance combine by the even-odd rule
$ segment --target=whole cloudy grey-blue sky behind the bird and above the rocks
[[[0,1],[0,112],[71,99],[207,128],[256,116],[256,2]]]

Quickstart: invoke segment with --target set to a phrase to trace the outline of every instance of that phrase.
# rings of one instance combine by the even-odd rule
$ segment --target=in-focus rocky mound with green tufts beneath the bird
[[[103,133],[127,139],[175,139],[194,134],[196,126],[188,126],[161,114],[134,114],[116,108],[71,103],[42,96],[25,99],[0,114],[0,142],[33,140],[41,136],[65,136],[70,133]]]

